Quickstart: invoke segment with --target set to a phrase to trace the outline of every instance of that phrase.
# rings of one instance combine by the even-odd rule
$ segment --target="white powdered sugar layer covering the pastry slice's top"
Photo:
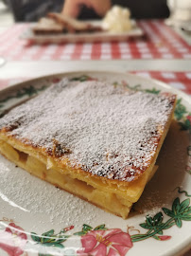
[[[49,154],[67,155],[84,171],[131,181],[147,168],[172,107],[170,97],[64,79],[10,111],[0,128]]]

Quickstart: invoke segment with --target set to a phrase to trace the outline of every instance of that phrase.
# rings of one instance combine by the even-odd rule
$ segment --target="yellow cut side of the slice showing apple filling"
[[[132,203],[136,202],[143,192],[148,180],[155,173],[157,166],[148,170],[139,179],[126,186],[104,183],[94,176],[82,176],[67,168],[59,167],[52,159],[32,150],[23,152],[4,140],[0,140],[0,152],[10,161],[25,169],[29,174],[50,182],[56,187],[78,195],[78,197],[97,207],[127,218]]]

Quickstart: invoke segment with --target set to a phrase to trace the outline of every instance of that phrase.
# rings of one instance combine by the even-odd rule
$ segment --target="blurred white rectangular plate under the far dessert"
[[[91,22],[93,25],[100,26],[100,22]],[[64,43],[77,43],[77,42],[109,42],[109,41],[125,41],[131,37],[140,37],[144,35],[144,31],[141,27],[138,27],[135,21],[131,21],[132,28],[128,32],[123,33],[113,33],[113,32],[94,32],[94,33],[63,33],[63,34],[53,34],[53,35],[35,35],[32,31],[32,27],[26,29],[26,31],[21,35],[22,39],[31,40],[38,44],[43,43],[53,43],[60,44]]]

